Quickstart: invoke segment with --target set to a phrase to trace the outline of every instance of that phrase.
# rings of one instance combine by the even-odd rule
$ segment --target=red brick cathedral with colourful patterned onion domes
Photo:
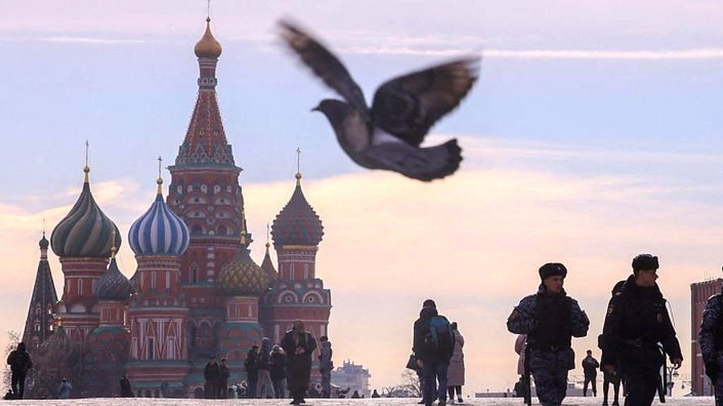
[[[234,383],[245,379],[249,348],[262,337],[281,341],[295,319],[317,339],[327,334],[331,293],[315,267],[323,226],[304,196],[299,171],[291,198],[270,228],[278,271],[268,241],[261,265],[249,254],[241,168],[215,91],[221,51],[207,18],[194,48],[197,100],[176,161],[168,167],[167,196],[159,160],[155,199],[127,233],[137,261],[133,276],[125,277],[116,262],[123,233],[95,202],[87,164],[77,202],[50,241],[45,233],[40,240],[22,340],[31,353],[80,348],[77,368],[91,371],[83,379],[82,397],[114,396],[124,374],[137,396],[191,397],[203,387],[211,357],[226,358]],[[64,275],[60,299],[48,246]],[[312,371],[318,376],[317,365]]]

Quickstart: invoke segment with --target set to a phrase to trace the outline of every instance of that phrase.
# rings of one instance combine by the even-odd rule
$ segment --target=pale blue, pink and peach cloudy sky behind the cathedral
[[[42,219],[49,233],[80,193],[86,139],[93,194],[121,233],[152,202],[155,159],[174,160],[194,105],[206,12],[202,0],[0,2],[0,347],[25,321]],[[435,298],[466,339],[466,392],[511,387],[505,319],[545,262],[568,267],[591,319],[579,364],[612,285],[651,252],[689,377],[690,283],[723,263],[719,1],[213,1],[210,16],[252,256],[300,147],[337,365],[364,364],[375,388],[400,383],[411,324]],[[458,173],[420,183],[351,163],[309,112],[333,93],[283,51],[282,17],[336,51],[367,99],[396,75],[482,54],[471,94],[426,142],[456,137]],[[127,243],[119,262],[132,275]]]

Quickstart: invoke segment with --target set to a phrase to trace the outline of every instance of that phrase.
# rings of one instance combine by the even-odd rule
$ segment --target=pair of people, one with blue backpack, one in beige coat
[[[464,386],[464,337],[456,322],[437,312],[437,304],[432,299],[422,303],[419,319],[414,321],[412,342],[412,360],[422,386],[422,400],[419,404],[432,405],[439,399],[439,405],[445,406],[449,395],[454,403],[455,394],[459,403]],[[414,365],[409,366],[414,368]]]

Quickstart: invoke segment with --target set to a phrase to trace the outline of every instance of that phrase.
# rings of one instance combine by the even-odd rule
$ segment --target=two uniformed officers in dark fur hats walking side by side
[[[665,355],[673,368],[680,368],[683,354],[656,283],[658,258],[640,254],[633,259],[632,268],[633,274],[612,290],[598,340],[600,363],[609,382],[625,381],[626,406],[645,406],[651,405],[659,387]],[[585,337],[590,324],[578,302],[562,288],[567,274],[563,264],[540,267],[542,283],[537,293],[523,298],[507,320],[510,332],[526,334],[526,373],[534,377],[537,397],[544,406],[558,406],[565,398],[568,371],[575,368],[572,337]],[[583,368],[588,370],[596,370],[596,364],[594,358],[583,360]]]

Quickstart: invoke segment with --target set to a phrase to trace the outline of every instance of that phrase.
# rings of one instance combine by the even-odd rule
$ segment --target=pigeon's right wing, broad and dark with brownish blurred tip
[[[471,57],[391,79],[374,95],[372,121],[419,146],[429,128],[459,105],[478,73],[479,58]]]

